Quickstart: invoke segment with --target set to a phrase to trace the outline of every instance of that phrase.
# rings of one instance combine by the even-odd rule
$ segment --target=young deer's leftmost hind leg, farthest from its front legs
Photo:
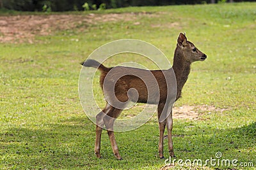
[[[107,103],[104,110],[100,111],[96,116],[96,139],[95,139],[95,148],[94,152],[97,158],[101,158],[100,156],[100,138],[102,133],[102,128],[104,127],[103,118],[109,112],[112,112],[113,108]]]

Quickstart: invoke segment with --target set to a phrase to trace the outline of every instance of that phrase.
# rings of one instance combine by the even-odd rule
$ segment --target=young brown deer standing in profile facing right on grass
[[[168,85],[166,82],[166,75],[169,73],[172,73],[174,71],[177,85],[177,94],[174,98],[174,101],[177,101],[177,99],[180,98],[181,90],[184,84],[186,83],[188,79],[188,74],[190,72],[190,65],[192,62],[195,62],[197,60],[204,61],[207,58],[207,56],[200,52],[198,48],[193,45],[193,43],[187,41],[187,38],[184,34],[180,33],[179,38],[177,39],[177,47],[175,49],[175,54],[173,58],[173,67],[168,70],[145,70],[145,69],[137,69],[133,67],[105,67],[96,60],[86,60],[82,62],[81,64],[85,67],[95,67],[99,69],[101,72],[100,74],[100,86],[104,92],[105,97],[108,97],[109,100],[112,98],[117,98],[118,101],[121,101],[122,104],[120,106],[115,106],[115,102],[111,103],[107,99],[107,103],[105,108],[100,111],[100,113],[96,116],[96,140],[95,140],[95,155],[100,158],[100,138],[102,133],[102,127],[104,125],[106,126],[106,129],[108,131],[108,136],[111,141],[111,147],[113,150],[113,153],[116,157],[116,159],[120,160],[122,157],[120,156],[118,152],[118,147],[116,144],[114,131],[113,131],[113,124],[115,121],[115,118],[120,115],[122,110],[125,108],[125,102],[126,101],[134,101],[138,103],[150,103],[150,104],[158,104],[157,106],[157,113],[158,118],[161,117],[161,114],[168,114],[164,120],[159,120],[159,157],[163,159],[163,134],[165,126],[168,130],[168,149],[171,157],[175,157],[173,152],[173,142],[172,142],[172,127],[173,127],[173,120],[172,120],[172,103],[170,106],[167,106],[167,108],[164,108],[165,105],[170,104],[167,101],[168,93],[170,93],[170,90],[168,90]],[[115,71],[116,69],[116,71]],[[107,76],[108,73],[113,71],[111,74],[112,76]],[[120,76],[118,80],[115,80],[115,84],[109,84],[108,82],[113,82],[113,79],[115,79],[115,74],[117,72],[120,73],[136,73],[141,74],[142,77],[147,78],[148,74],[152,74],[156,81],[149,81],[151,83],[150,85],[145,84],[145,80],[141,80],[141,78],[138,78],[134,75],[124,74],[124,76]],[[114,75],[114,76],[113,76]],[[111,79],[111,80],[109,80]],[[171,81],[175,81],[175,78]],[[106,83],[107,82],[107,83]],[[107,87],[105,88],[105,84],[107,84]],[[111,89],[111,86],[113,86],[113,89],[115,89],[115,93],[112,95],[115,95],[114,97],[111,96],[111,93],[108,92],[109,89]],[[153,90],[157,92],[158,95],[156,97],[151,97],[150,101],[148,101],[148,94],[147,87],[152,87]],[[156,88],[156,89],[154,89]],[[132,93],[129,94],[129,89],[136,89],[138,97],[136,99],[132,98]],[[176,89],[175,89],[176,90]],[[131,99],[130,99],[131,97]],[[169,113],[167,113],[169,112]]]

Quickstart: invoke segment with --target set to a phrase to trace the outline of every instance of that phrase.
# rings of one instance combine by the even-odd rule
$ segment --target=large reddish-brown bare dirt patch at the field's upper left
[[[155,13],[109,13],[88,15],[17,15],[0,16],[0,42],[33,43],[35,35],[50,35],[68,29],[83,30],[89,24],[135,20],[140,16],[156,17]],[[138,24],[138,23],[137,23]]]

